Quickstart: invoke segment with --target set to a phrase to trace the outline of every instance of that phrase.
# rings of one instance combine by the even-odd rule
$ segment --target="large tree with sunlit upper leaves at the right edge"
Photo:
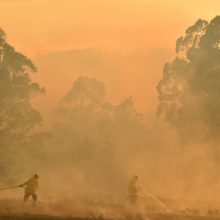
[[[158,114],[185,141],[220,131],[220,17],[198,20],[176,42],[176,57],[158,83]]]

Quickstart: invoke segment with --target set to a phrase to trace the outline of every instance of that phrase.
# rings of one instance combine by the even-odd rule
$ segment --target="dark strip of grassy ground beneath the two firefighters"
[[[156,206],[127,206],[104,201],[90,202],[62,200],[59,202],[0,201],[0,220],[220,220],[216,207],[162,210]]]

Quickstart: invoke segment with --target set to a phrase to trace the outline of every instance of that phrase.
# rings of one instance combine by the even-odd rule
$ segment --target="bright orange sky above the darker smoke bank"
[[[204,3],[206,2],[206,3]],[[217,14],[218,0],[0,0],[0,25],[29,56],[98,47],[174,47],[198,18]]]

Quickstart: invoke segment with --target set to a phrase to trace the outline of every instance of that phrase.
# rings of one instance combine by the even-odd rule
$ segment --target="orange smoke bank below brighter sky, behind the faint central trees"
[[[105,84],[107,99],[111,102],[119,103],[132,96],[139,111],[155,115],[155,84],[160,79],[161,66],[167,57],[171,57],[171,52],[166,48],[131,53],[87,48],[35,57],[39,72],[33,80],[47,88],[47,96],[35,99],[33,104],[47,120],[50,119],[72,82],[85,75]]]

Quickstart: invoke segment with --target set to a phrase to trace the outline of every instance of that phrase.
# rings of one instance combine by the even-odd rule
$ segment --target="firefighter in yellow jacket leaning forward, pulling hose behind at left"
[[[26,202],[30,196],[32,196],[34,202],[37,201],[37,189],[39,185],[38,183],[39,177],[40,177],[39,173],[35,173],[34,176],[31,177],[28,181],[19,185],[19,187],[25,187],[24,202]]]

